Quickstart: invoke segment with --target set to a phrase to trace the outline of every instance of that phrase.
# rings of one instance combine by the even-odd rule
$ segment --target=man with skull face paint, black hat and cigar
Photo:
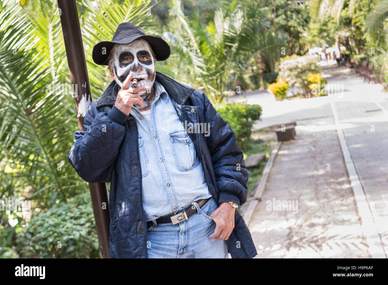
[[[256,256],[236,211],[247,198],[241,149],[204,93],[156,71],[168,44],[125,22],[92,56],[114,80],[68,159],[84,180],[111,182],[110,257]]]

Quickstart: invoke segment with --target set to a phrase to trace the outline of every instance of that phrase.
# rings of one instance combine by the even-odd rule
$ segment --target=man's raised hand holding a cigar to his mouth
[[[114,105],[127,116],[131,112],[131,108],[135,104],[142,106],[144,100],[140,97],[139,92],[148,90],[148,86],[141,86],[139,88],[129,87],[130,82],[133,78],[133,72],[128,74],[125,81],[123,82],[123,87],[117,92],[116,103]]]

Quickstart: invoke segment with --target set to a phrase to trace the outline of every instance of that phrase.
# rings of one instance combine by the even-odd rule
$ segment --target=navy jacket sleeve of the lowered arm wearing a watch
[[[207,145],[220,192],[218,203],[235,201],[242,205],[248,195],[244,155],[229,124],[220,117],[208,97],[204,97],[204,122],[210,123]]]

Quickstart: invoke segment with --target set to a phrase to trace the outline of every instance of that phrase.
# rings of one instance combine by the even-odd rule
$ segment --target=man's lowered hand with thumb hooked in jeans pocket
[[[234,228],[234,209],[228,202],[222,202],[220,207],[215,209],[209,217],[216,223],[214,233],[209,238],[216,240],[227,240]]]

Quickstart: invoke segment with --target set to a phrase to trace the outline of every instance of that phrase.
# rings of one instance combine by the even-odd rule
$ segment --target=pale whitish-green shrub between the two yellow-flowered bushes
[[[280,59],[279,78],[284,78],[290,86],[299,88],[301,95],[311,97],[309,73],[319,73],[315,55],[291,55]]]

